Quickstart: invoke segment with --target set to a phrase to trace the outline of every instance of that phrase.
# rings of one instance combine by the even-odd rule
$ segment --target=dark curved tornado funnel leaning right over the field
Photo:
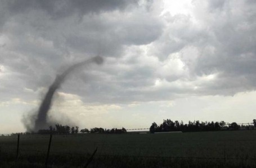
[[[47,113],[51,108],[52,97],[55,94],[56,90],[60,88],[61,83],[65,81],[66,76],[68,76],[70,72],[74,71],[78,67],[87,66],[88,64],[91,64],[91,63],[102,64],[103,58],[100,56],[96,56],[91,59],[84,60],[83,62],[79,62],[77,64],[74,64],[73,66],[70,66],[62,74],[59,74],[56,76],[55,81],[48,88],[48,91],[44,96],[44,99],[38,109],[37,118],[35,118],[35,122],[34,122],[34,129],[33,129],[34,132],[38,132],[39,129],[46,129],[50,126],[47,123]]]

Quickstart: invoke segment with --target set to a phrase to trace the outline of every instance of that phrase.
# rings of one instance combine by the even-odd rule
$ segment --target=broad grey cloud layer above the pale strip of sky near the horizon
[[[155,2],[2,1],[1,93],[48,87],[95,55],[105,64],[71,74],[61,91],[132,102],[255,90],[254,1],[192,1],[175,15]]]

